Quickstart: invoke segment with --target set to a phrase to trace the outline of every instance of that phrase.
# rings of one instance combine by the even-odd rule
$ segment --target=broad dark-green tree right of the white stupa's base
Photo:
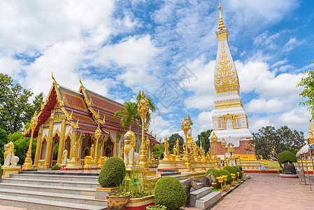
[[[253,137],[250,144],[255,147],[256,155],[272,160],[277,160],[278,154],[283,151],[297,153],[305,143],[304,133],[292,131],[287,125],[277,130],[273,126],[262,127],[259,132],[253,133]]]

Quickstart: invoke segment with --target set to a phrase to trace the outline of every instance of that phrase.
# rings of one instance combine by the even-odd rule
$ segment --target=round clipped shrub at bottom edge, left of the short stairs
[[[179,209],[187,200],[185,189],[178,179],[171,176],[160,178],[155,186],[155,203],[168,210]]]

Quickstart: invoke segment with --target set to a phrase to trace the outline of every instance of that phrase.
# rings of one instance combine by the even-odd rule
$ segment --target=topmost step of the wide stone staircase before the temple
[[[98,176],[69,176],[69,175],[48,175],[48,174],[12,174],[14,179],[53,179],[64,181],[87,181],[98,182]]]

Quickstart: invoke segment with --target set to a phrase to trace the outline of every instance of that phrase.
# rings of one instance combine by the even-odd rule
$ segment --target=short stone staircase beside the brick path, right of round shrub
[[[187,181],[187,179],[181,179],[180,182]],[[190,207],[197,207],[200,209],[210,209],[213,207],[221,198],[220,192],[213,192],[212,188],[204,187],[203,183],[197,183],[198,190],[191,188],[190,193]]]

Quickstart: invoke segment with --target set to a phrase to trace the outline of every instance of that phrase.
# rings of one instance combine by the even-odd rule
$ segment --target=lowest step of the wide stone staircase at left
[[[110,209],[109,207],[101,207],[87,204],[74,204],[69,202],[58,202],[50,200],[41,200],[31,197],[17,197],[9,195],[1,195],[0,204],[10,207],[20,207],[25,209],[38,209],[38,210],[69,210],[69,209],[88,209],[100,210]]]

